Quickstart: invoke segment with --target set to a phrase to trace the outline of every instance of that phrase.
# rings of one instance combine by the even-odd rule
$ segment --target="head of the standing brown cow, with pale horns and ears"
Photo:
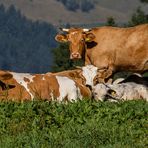
[[[69,42],[70,59],[80,59],[85,52],[86,42],[91,42],[95,35],[90,29],[70,28],[62,29],[66,34],[58,34],[55,40],[58,42]]]

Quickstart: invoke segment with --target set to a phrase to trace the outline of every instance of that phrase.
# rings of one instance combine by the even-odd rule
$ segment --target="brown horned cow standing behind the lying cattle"
[[[63,29],[59,42],[69,42],[70,58],[85,59],[85,65],[100,69],[99,81],[117,71],[148,70],[148,24],[130,28],[98,27]]]

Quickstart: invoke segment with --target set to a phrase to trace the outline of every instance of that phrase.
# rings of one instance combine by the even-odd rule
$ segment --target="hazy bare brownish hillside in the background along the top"
[[[53,25],[61,24],[91,24],[106,22],[106,18],[113,16],[117,22],[127,22],[138,6],[145,11],[148,6],[139,0],[99,0],[95,9],[89,13],[80,10],[68,11],[64,5],[56,0],[0,0],[6,7],[15,7],[32,20],[42,20]]]

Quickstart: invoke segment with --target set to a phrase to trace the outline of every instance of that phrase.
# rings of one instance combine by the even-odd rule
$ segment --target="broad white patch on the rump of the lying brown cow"
[[[69,101],[75,101],[77,98],[82,98],[80,89],[76,87],[73,80],[68,77],[56,76],[59,83],[60,96],[57,98],[58,101],[62,101],[67,98]]]

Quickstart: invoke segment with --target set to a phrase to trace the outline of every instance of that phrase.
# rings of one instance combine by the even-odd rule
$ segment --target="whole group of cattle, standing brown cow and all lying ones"
[[[57,73],[29,74],[0,71],[0,100],[34,98],[76,101],[148,101],[148,24],[130,28],[62,29],[55,39],[69,42],[70,58],[83,58],[85,66]],[[118,71],[126,78],[112,80]]]

